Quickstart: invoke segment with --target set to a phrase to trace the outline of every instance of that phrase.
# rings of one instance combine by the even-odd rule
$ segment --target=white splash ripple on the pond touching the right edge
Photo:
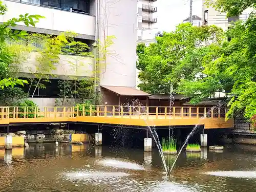
[[[255,179],[256,172],[254,171],[239,171],[239,170],[230,170],[227,172],[207,172],[206,175],[219,176],[219,177],[233,177],[233,178],[248,178]]]

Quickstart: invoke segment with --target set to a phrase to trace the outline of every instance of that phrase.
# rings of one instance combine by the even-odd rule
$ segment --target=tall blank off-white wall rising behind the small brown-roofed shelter
[[[136,86],[137,0],[100,1],[100,40],[114,35],[106,67],[102,69],[102,86]]]

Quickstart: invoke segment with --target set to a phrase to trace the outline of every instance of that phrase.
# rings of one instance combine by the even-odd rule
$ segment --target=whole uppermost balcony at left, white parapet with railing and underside
[[[90,38],[94,39],[95,36],[95,16],[87,14],[86,10],[82,9],[73,9],[69,8],[64,9],[65,7],[56,7],[51,4],[52,1],[41,0],[39,4],[30,4],[22,1],[3,1],[8,8],[8,12],[5,15],[0,16],[0,22],[6,22],[8,19],[13,17],[18,17],[20,14],[37,14],[45,16],[46,18],[40,19],[39,23],[36,24],[36,28],[33,29],[33,32],[51,33],[54,34],[54,31],[73,31],[78,34],[88,35]],[[29,30],[24,24],[24,30]],[[19,26],[17,26],[18,28]],[[48,31],[47,31],[48,30]],[[52,30],[49,32],[49,30]]]

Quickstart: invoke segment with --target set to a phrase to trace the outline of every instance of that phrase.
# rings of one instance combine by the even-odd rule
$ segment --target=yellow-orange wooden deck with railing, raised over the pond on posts
[[[205,129],[231,128],[220,109],[200,107],[147,107],[91,105],[87,108],[1,107],[0,124],[84,122],[133,126],[204,125]]]

